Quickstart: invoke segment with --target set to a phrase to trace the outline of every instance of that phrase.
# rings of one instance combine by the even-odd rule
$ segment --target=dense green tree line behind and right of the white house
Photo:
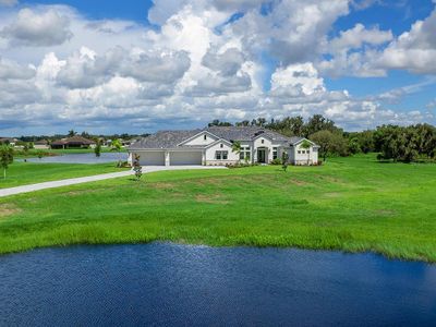
[[[269,121],[257,118],[234,124],[214,120],[208,125],[261,126],[287,136],[303,136],[319,145],[319,155],[324,160],[328,156],[350,156],[359,153],[378,153],[378,160],[402,162],[436,158],[436,128],[431,124],[382,125],[375,130],[346,132],[332,120],[314,114],[307,120],[300,116]]]

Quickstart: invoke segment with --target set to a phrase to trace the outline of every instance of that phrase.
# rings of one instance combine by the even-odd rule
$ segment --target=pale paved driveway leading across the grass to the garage
[[[155,171],[164,171],[164,170],[186,170],[186,169],[226,169],[225,167],[209,167],[209,166],[148,166],[143,168],[143,173],[149,173]],[[52,182],[44,182],[37,184],[22,185],[10,189],[0,189],[0,197],[15,195],[21,193],[35,192],[47,189],[62,187],[88,182],[96,182],[109,179],[117,179],[121,177],[128,177],[133,174],[132,170],[121,171],[121,172],[111,172],[105,174],[96,174],[88,175],[83,178],[52,181]]]

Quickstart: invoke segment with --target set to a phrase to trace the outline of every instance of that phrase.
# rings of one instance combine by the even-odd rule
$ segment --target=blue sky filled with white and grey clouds
[[[0,0],[0,135],[436,123],[436,0]]]

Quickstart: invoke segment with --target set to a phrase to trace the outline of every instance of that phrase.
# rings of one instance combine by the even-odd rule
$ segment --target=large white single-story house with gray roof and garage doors
[[[142,166],[203,165],[237,162],[269,164],[288,153],[292,165],[316,165],[318,146],[302,147],[304,137],[287,137],[258,126],[210,126],[193,131],[161,131],[143,137],[129,147],[129,161],[140,155]],[[240,153],[232,150],[234,142]]]

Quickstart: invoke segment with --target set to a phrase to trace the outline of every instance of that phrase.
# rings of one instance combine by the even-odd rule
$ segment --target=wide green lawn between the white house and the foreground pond
[[[436,262],[436,166],[167,171],[0,199],[0,252],[166,240],[372,251]]]

